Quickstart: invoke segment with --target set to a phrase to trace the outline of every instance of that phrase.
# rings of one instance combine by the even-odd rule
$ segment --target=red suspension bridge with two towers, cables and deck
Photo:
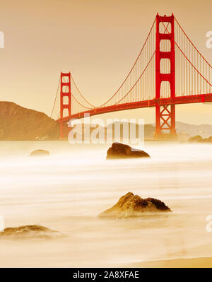
[[[63,138],[63,125],[69,119],[155,107],[155,138],[160,139],[163,131],[175,137],[175,105],[212,102],[211,69],[175,16],[157,14],[139,56],[110,99],[102,105],[91,104],[73,76],[61,73],[52,114],[59,98],[57,121]]]

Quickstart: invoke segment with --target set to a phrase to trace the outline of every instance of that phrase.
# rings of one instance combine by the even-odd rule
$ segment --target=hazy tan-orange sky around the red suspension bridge
[[[1,1],[0,100],[51,113],[60,71],[71,71],[91,103],[105,102],[139,54],[155,14],[174,13],[194,45],[212,61],[206,32],[212,30],[211,0],[37,0]],[[176,119],[212,124],[212,105],[181,105]],[[140,117],[155,110],[104,117]]]

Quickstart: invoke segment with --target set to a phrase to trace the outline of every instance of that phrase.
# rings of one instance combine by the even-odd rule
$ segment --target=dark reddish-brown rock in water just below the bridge
[[[107,150],[107,159],[113,158],[150,158],[148,153],[131,148],[122,143],[112,143],[112,146]]]

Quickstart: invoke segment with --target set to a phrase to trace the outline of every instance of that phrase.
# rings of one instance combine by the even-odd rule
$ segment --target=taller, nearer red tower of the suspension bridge
[[[170,32],[160,33],[160,25],[171,25]],[[164,28],[165,29],[165,28]],[[170,51],[161,50],[161,40],[170,40]],[[164,45],[165,46],[165,45]],[[170,60],[170,74],[163,74],[160,70],[161,59]],[[156,16],[156,46],[155,46],[155,139],[162,137],[162,131],[170,131],[170,136],[177,136],[175,130],[175,105],[160,105],[161,83],[168,81],[170,84],[170,98],[175,98],[175,20],[172,16]]]

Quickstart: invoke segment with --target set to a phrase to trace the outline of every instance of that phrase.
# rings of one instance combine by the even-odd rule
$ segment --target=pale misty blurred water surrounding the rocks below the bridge
[[[30,158],[31,151],[50,151]],[[0,240],[0,266],[130,266],[211,256],[212,145],[146,142],[151,159],[105,160],[108,145],[66,141],[1,142],[0,215],[5,227],[40,224],[64,233],[43,240]],[[172,213],[100,220],[133,192]]]

